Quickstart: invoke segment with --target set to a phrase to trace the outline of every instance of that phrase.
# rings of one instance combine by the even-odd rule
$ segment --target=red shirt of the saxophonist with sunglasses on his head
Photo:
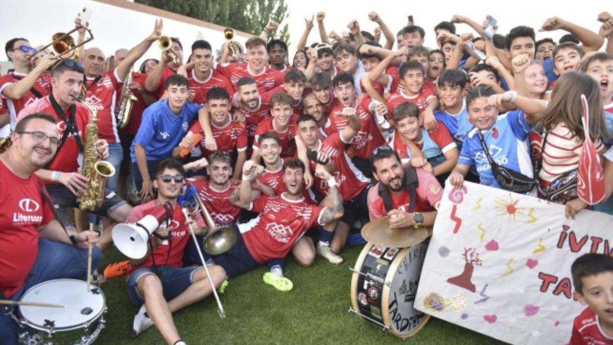
[[[87,109],[81,103],[76,103],[75,106],[77,107],[77,110],[75,110],[75,120],[77,120],[78,136],[81,139],[82,144],[85,144],[85,128],[89,122],[89,109]],[[34,114],[36,112],[45,112],[53,115],[58,125],[59,138],[62,138],[64,135],[64,130],[66,130],[66,123],[64,123],[64,120],[62,120],[59,115],[56,114],[53,106],[51,106],[51,103],[49,102],[49,96],[37,99],[34,101],[34,103],[21,110],[19,116],[17,117],[17,121],[21,120],[21,118],[25,117],[26,115]],[[67,117],[70,116],[70,110],[64,109],[64,114]],[[80,150],[77,141],[75,140],[74,136],[72,136],[72,133],[69,133],[64,145],[58,149],[58,152],[55,154],[55,159],[48,169],[61,172],[76,172],[78,169],[77,158],[79,152]]]

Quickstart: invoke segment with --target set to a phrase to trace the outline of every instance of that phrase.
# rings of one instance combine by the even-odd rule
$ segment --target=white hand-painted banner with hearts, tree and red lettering
[[[466,182],[447,185],[415,308],[512,344],[566,344],[586,307],[571,265],[613,256],[613,217]]]

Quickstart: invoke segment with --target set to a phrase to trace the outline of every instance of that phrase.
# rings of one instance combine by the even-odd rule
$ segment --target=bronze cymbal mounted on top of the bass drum
[[[364,225],[361,233],[366,241],[378,246],[403,248],[423,242],[432,235],[432,227],[392,229],[386,215]]]

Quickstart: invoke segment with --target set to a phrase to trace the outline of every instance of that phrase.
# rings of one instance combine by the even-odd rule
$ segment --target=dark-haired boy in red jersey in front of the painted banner
[[[587,308],[574,319],[569,345],[613,344],[613,258],[581,255],[571,273],[574,298]]]

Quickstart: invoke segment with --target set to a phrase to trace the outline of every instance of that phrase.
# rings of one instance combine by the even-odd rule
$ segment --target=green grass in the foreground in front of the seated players
[[[220,319],[212,296],[174,314],[188,344],[500,344],[466,328],[431,318],[413,337],[402,341],[349,313],[351,271],[362,246],[345,249],[345,263],[334,266],[322,258],[311,268],[288,260],[285,276],[294,290],[283,293],[262,282],[264,267],[230,281],[220,295],[226,318]],[[112,248],[102,269],[122,260]],[[129,336],[137,308],[128,301],[123,277],[102,284],[109,310],[98,344],[164,344],[155,327],[137,338]]]

